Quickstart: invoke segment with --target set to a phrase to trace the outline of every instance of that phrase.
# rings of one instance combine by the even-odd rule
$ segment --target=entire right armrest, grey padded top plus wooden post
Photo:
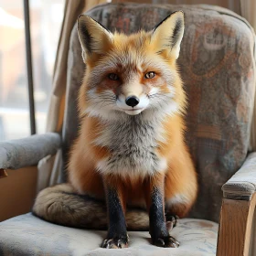
[[[217,256],[248,255],[256,206],[256,153],[222,187]]]

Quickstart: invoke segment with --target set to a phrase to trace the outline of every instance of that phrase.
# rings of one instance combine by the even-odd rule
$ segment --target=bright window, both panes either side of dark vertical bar
[[[37,133],[44,133],[64,0],[30,0]],[[22,0],[0,0],[0,141],[30,134]]]

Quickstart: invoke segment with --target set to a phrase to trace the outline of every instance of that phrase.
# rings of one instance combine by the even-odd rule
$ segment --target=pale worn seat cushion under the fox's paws
[[[30,213],[0,223],[1,256],[214,256],[218,225],[208,220],[180,219],[172,235],[178,249],[161,249],[150,244],[148,232],[129,232],[130,247],[101,249],[106,231],[71,229],[37,219]],[[15,239],[14,239],[15,238]]]

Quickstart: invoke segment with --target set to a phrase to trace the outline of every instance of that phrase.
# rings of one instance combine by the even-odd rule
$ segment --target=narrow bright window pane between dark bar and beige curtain
[[[64,12],[64,0],[30,1],[30,28],[37,133],[45,133],[51,81]]]

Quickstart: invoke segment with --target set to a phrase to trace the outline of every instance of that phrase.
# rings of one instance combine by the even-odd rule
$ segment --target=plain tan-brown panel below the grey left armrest
[[[37,189],[37,166],[7,170],[0,179],[0,221],[30,211]]]

